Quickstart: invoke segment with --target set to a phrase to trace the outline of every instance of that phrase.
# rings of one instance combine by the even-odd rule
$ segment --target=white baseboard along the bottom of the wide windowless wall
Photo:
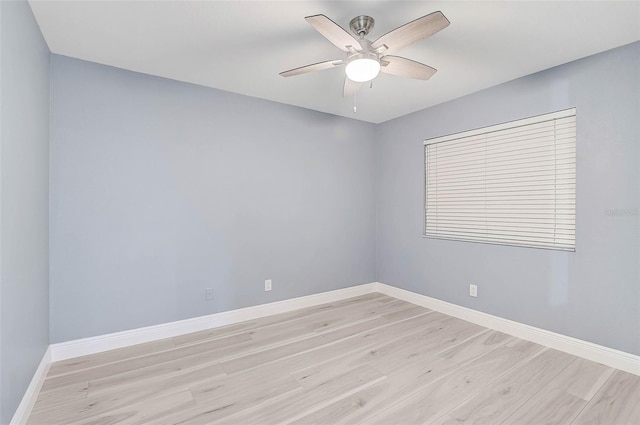
[[[337,289],[335,291],[321,292],[319,294],[291,298],[268,304],[260,304],[252,307],[210,314],[207,316],[194,317],[192,319],[60,342],[50,346],[51,361],[56,362],[85,356],[87,354],[101,353],[103,351],[114,350],[116,348],[128,347],[158,339],[170,338],[205,329],[231,325],[234,323],[244,322],[246,320],[258,319],[272,314],[286,313],[287,311],[375,292],[375,287],[375,283],[366,283],[349,288]]]

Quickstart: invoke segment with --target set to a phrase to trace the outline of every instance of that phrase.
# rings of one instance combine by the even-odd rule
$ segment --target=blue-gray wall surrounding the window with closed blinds
[[[378,281],[640,354],[639,58],[640,42],[381,124]],[[421,236],[424,139],[574,106],[575,253]]]

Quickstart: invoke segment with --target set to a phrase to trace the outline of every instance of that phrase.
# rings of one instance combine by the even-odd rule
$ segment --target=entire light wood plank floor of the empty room
[[[640,377],[381,294],[51,365],[29,424],[640,424]]]

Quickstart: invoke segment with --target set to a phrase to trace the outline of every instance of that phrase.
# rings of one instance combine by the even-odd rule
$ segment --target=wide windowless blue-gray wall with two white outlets
[[[374,125],[56,55],[51,102],[52,343],[375,281]]]

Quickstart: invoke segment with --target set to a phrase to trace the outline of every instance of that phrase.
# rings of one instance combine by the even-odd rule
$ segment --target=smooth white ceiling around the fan
[[[30,0],[53,53],[379,123],[640,39],[639,1],[55,1]],[[279,72],[344,53],[304,20],[369,39],[441,10],[443,31],[398,54],[438,69],[429,81],[381,74],[342,97],[344,68]]]

